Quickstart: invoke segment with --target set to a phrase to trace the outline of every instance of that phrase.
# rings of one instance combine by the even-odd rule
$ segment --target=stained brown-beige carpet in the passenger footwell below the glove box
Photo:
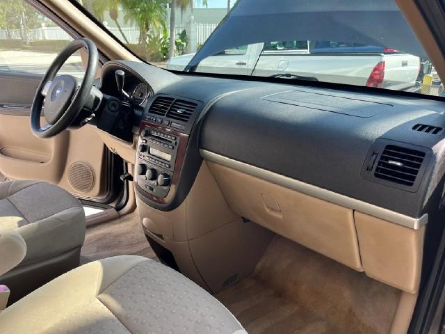
[[[250,334],[388,333],[400,292],[285,238],[216,297]]]

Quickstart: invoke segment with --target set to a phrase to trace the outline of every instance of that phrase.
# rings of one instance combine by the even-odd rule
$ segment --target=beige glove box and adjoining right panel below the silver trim
[[[207,165],[237,214],[378,281],[417,292],[425,224],[408,228],[308,196],[234,169],[235,164],[227,167],[226,159]]]

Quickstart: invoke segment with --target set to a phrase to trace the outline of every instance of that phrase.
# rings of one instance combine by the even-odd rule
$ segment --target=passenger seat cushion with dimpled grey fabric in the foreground
[[[246,333],[194,282],[138,256],[109,257],[57,277],[0,313],[0,328],[16,334]]]

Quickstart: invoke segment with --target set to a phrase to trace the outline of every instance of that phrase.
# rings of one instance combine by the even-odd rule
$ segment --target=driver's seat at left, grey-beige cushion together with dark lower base
[[[0,276],[16,301],[77,267],[85,240],[85,213],[69,192],[50,183],[0,183],[0,227],[12,228],[26,243],[20,265]]]

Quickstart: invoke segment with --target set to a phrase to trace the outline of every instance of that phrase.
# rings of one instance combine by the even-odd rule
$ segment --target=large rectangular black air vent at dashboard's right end
[[[374,171],[374,176],[390,182],[413,186],[425,159],[425,152],[387,145]]]

